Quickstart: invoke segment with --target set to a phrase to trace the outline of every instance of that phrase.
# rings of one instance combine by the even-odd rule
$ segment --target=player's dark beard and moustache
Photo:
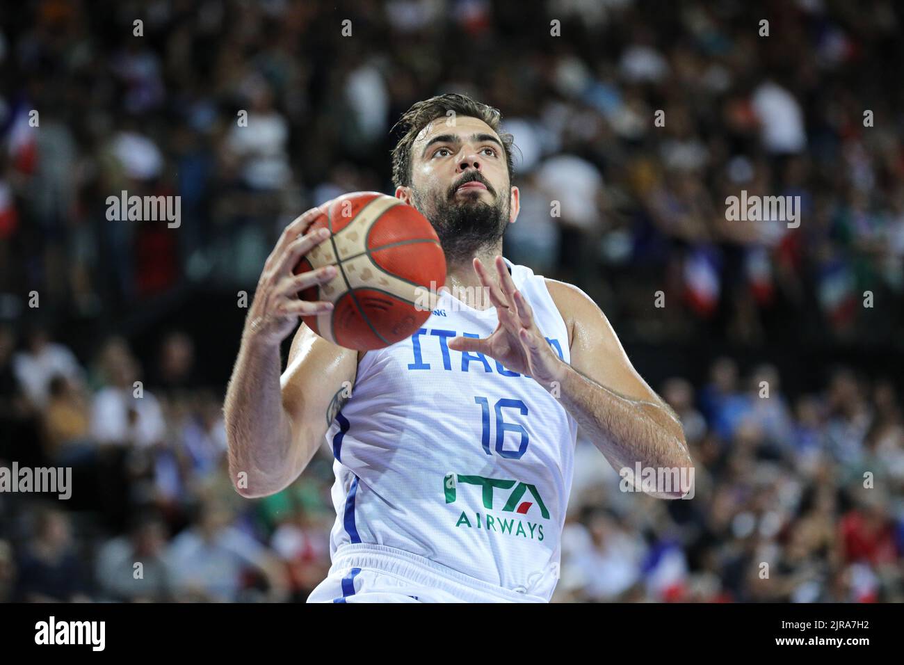
[[[474,181],[485,185],[494,195],[494,203],[482,201],[479,189],[456,195],[458,187]],[[417,191],[412,194],[414,207],[433,224],[447,264],[470,261],[482,250],[495,247],[508,225],[508,201],[496,195],[492,185],[476,172],[464,176],[445,192],[429,193],[428,201]]]

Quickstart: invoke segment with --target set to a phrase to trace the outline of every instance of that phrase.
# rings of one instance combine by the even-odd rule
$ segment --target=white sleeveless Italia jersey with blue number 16
[[[545,281],[506,264],[543,336],[570,363]],[[497,324],[494,308],[472,309],[444,291],[417,333],[363,356],[326,432],[334,558],[348,544],[387,546],[549,600],[577,423],[530,376],[447,346]]]

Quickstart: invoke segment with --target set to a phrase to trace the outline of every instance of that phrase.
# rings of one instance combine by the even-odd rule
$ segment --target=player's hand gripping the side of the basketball
[[[298,293],[332,280],[337,270],[335,266],[297,275],[293,272],[307,252],[330,237],[327,229],[306,233],[322,212],[320,208],[311,208],[290,223],[264,263],[254,301],[245,320],[245,335],[253,337],[259,344],[279,345],[295,329],[299,316],[333,309],[330,302],[302,300],[298,298]]]

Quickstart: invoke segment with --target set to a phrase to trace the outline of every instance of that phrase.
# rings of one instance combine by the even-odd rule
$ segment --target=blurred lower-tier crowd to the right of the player
[[[716,359],[660,394],[696,464],[692,499],[622,491],[579,441],[560,601],[904,602],[904,418],[889,381],[837,367],[795,399],[774,366]]]

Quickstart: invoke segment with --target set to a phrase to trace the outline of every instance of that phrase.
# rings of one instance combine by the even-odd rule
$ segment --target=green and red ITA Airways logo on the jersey
[[[543,526],[531,520],[538,518],[548,520],[550,511],[546,508],[540,491],[530,483],[447,473],[443,479],[443,491],[447,504],[462,499],[463,503],[473,506],[479,496],[485,510],[508,513],[492,515],[489,512],[464,509],[458,516],[456,527],[476,528],[488,533],[502,533],[530,540],[543,539]]]

